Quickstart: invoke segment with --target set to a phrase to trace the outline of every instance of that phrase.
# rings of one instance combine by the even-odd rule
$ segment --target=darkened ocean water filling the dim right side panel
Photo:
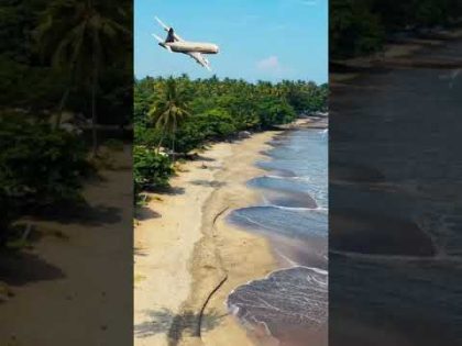
[[[377,69],[331,91],[331,345],[462,345],[460,71]]]

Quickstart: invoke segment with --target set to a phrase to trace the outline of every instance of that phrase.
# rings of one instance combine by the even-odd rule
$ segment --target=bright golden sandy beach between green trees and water
[[[151,196],[135,227],[135,345],[257,345],[226,299],[277,264],[265,238],[224,217],[257,201],[245,182],[263,172],[254,163],[277,133],[215,144],[182,165],[172,193]]]

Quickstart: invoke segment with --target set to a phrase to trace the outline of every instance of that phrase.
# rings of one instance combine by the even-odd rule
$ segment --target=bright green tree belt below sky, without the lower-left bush
[[[170,85],[170,87],[168,87]],[[182,124],[173,131],[174,121],[156,126],[152,112],[161,109],[172,97],[168,88],[175,86],[182,99],[178,109],[187,108]],[[135,81],[134,119],[135,141],[141,145],[162,145],[172,148],[169,139],[175,132],[176,150],[187,153],[207,141],[223,139],[239,131],[258,131],[293,121],[297,114],[327,109],[328,87],[305,81],[271,83],[244,80],[209,79],[190,80],[187,76],[176,79],[146,77]],[[169,116],[172,113],[167,112]],[[166,130],[166,131],[162,131]],[[163,139],[162,136],[165,136]],[[157,139],[157,141],[156,141]]]

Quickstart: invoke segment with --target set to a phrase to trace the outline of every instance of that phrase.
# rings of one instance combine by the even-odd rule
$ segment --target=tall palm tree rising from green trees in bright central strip
[[[167,133],[172,134],[173,160],[175,160],[175,134],[179,125],[190,115],[185,93],[182,92],[175,79],[166,81],[164,94],[157,100],[148,112],[155,127],[162,131],[161,142]]]

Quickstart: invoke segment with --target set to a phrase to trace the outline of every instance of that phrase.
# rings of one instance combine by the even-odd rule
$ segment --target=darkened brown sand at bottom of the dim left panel
[[[131,153],[113,154],[117,169],[86,183],[88,209],[33,220],[33,247],[0,255],[0,280],[14,294],[0,299],[0,345],[130,344]]]

